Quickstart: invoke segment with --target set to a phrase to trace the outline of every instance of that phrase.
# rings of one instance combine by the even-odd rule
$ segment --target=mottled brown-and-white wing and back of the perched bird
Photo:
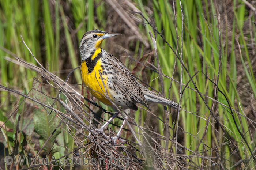
[[[112,95],[113,101],[124,109],[137,110],[136,103],[141,103],[149,108],[138,81],[128,68],[105,50],[102,50],[102,54],[104,56],[102,57],[103,72],[106,71],[108,75],[108,91]]]

